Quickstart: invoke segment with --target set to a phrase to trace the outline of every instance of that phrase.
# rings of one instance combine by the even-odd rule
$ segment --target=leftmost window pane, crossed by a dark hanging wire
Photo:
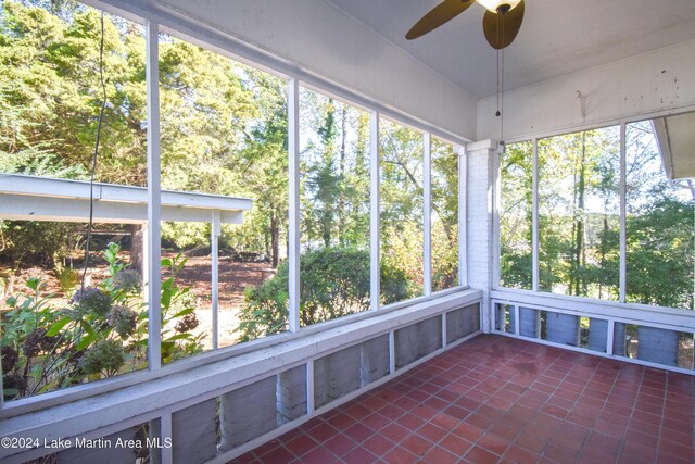
[[[71,188],[89,191],[103,66],[94,179],[143,187],[143,27],[77,2],[5,1],[0,9],[0,172],[39,188],[40,177],[83,180]],[[67,222],[0,217],[5,400],[147,367],[147,310],[131,250],[137,227],[103,224],[119,218],[106,221],[97,209],[90,230],[87,197],[37,197],[45,208],[72,202]]]

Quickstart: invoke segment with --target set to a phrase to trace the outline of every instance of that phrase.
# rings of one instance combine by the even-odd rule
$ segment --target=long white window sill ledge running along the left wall
[[[39,440],[45,437],[75,437],[131,421],[136,416],[140,416],[140,419],[151,417],[161,411],[182,407],[185,403],[215,398],[327,352],[349,348],[387,333],[393,334],[397,328],[435,317],[443,312],[479,304],[481,297],[482,293],[476,290],[452,293],[397,312],[380,313],[369,319],[193,367],[176,376],[146,380],[100,397],[27,413],[0,422],[0,436],[30,436]],[[0,460],[16,454],[16,451],[0,449]]]

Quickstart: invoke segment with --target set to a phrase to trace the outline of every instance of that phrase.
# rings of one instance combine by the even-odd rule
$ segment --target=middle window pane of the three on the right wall
[[[618,299],[617,126],[539,140],[540,289]]]

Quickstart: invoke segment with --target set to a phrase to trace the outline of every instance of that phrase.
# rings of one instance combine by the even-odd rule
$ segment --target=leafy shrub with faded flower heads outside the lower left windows
[[[77,290],[65,308],[55,308],[55,296],[35,278],[27,281],[31,294],[8,300],[10,311],[0,316],[5,399],[147,366],[148,309],[134,281],[137,273],[119,261],[118,251],[115,243],[104,250],[110,276],[99,287]],[[190,288],[174,280],[185,260],[162,264],[170,266],[162,284],[162,361],[168,362],[202,351],[203,336],[191,334],[197,302]]]

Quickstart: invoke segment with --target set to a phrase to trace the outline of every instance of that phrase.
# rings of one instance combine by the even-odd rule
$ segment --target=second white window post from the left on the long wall
[[[300,330],[300,83],[288,80],[287,130],[290,164],[289,224],[289,324],[290,331]]]

